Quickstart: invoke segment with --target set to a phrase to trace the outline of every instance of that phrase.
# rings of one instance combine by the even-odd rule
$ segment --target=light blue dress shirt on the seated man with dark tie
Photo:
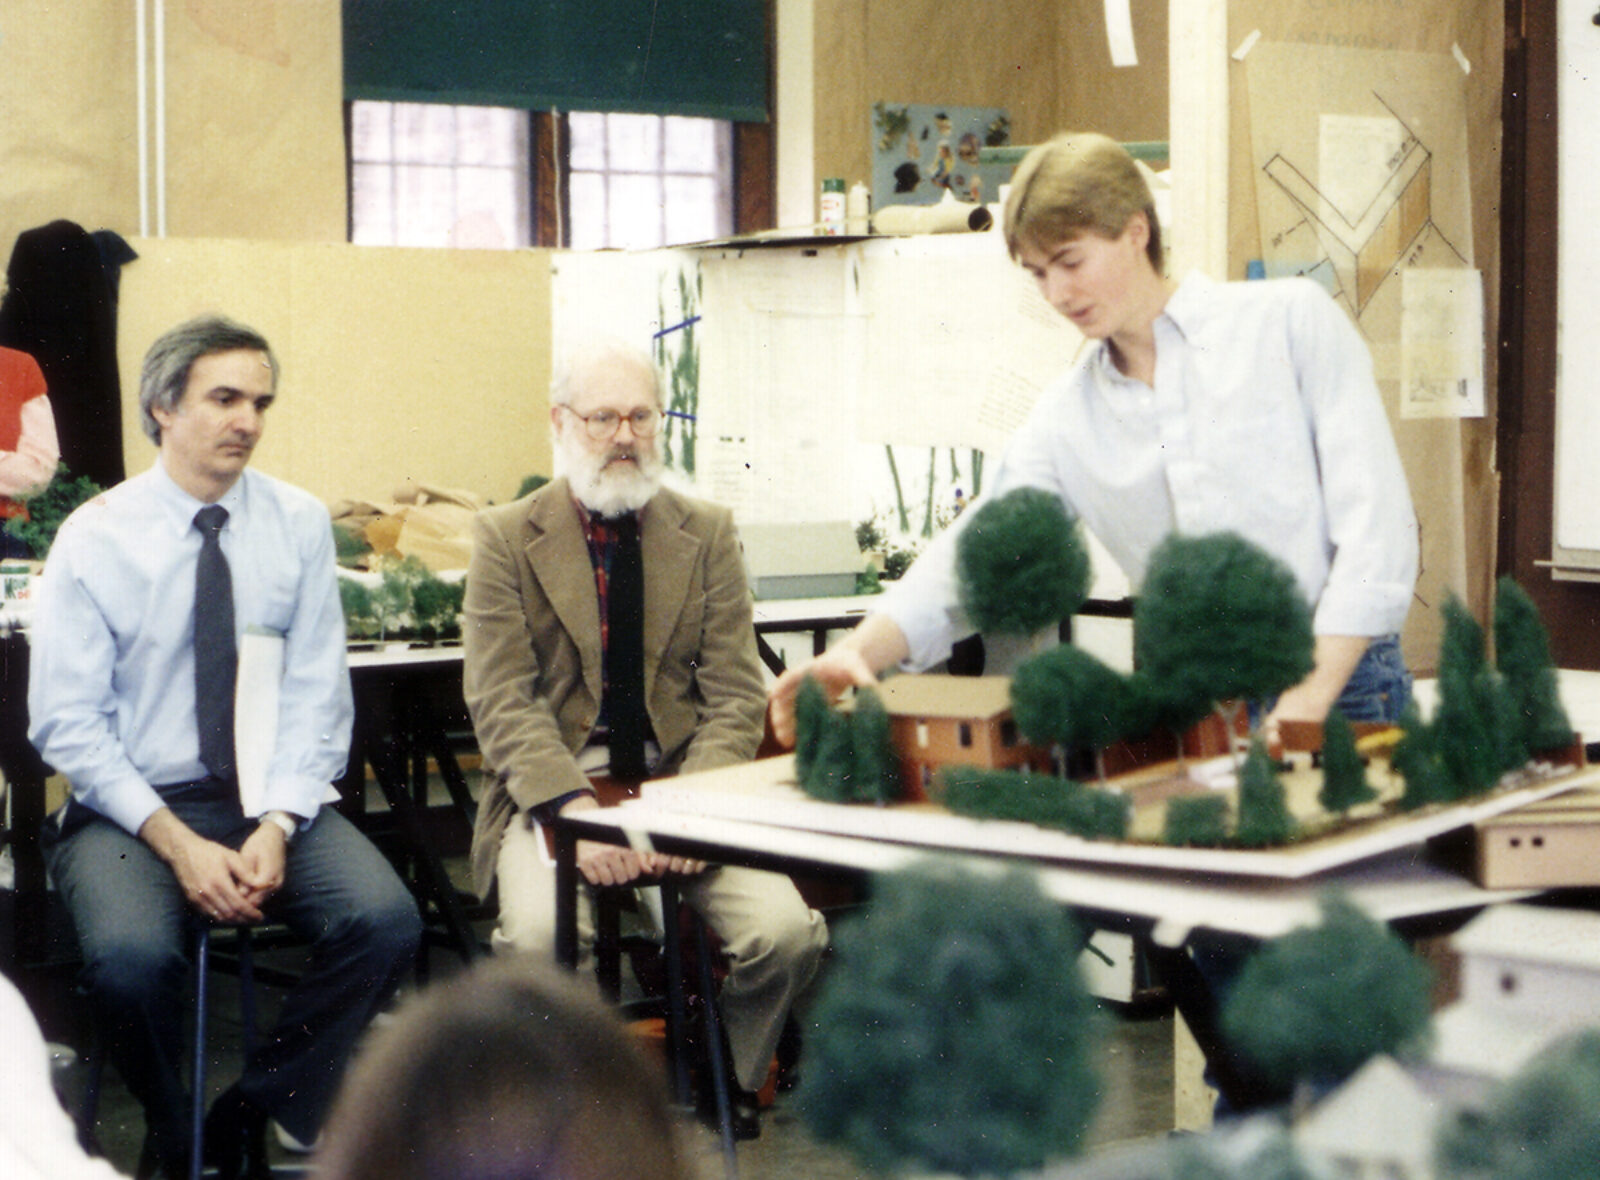
[[[245,470],[219,504],[234,620],[283,635],[266,811],[310,819],[350,748],[350,675],[328,510]],[[194,584],[205,507],[160,462],[61,526],[30,630],[29,739],[74,796],[138,833],[157,787],[206,777],[194,691]]]

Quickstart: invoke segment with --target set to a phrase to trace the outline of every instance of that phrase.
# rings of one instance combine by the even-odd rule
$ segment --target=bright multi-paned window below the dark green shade
[[[550,133],[544,150],[554,169],[534,166],[534,125]],[[733,232],[733,187],[726,120],[350,104],[357,245],[515,248],[544,240],[648,249],[704,241]],[[541,219],[560,230],[538,235]]]

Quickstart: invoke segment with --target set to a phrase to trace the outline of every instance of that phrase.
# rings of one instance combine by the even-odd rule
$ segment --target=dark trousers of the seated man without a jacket
[[[206,839],[237,849],[256,830],[229,783],[160,791],[178,819]],[[144,1106],[158,1158],[181,1159],[189,951],[203,918],[144,841],[75,801],[59,828],[54,819],[46,822],[45,855],[77,927],[82,983],[101,1036]],[[310,943],[310,963],[285,996],[270,1036],[245,1063],[238,1089],[310,1143],[350,1049],[410,967],[422,923],[382,854],[326,807],[290,844],[283,878],[262,910]]]

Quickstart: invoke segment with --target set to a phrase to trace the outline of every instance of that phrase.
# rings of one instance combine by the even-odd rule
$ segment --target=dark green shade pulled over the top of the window
[[[344,0],[344,96],[765,122],[766,0]]]

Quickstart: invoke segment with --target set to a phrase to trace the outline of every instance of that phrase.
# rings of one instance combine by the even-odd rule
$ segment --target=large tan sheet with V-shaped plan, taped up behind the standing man
[[[1248,155],[1235,176],[1248,184],[1240,195],[1254,213],[1261,272],[1320,281],[1366,339],[1421,524],[1418,598],[1438,603],[1469,593],[1467,473],[1451,417],[1475,401],[1458,390],[1482,387],[1485,350],[1482,310],[1472,312],[1483,301],[1467,299],[1482,296],[1482,278],[1464,273],[1474,265],[1470,83],[1454,54],[1381,43],[1254,42],[1243,56]],[[1470,371],[1442,339],[1470,345]],[[1406,620],[1413,667],[1432,667],[1437,619],[1413,611]]]

